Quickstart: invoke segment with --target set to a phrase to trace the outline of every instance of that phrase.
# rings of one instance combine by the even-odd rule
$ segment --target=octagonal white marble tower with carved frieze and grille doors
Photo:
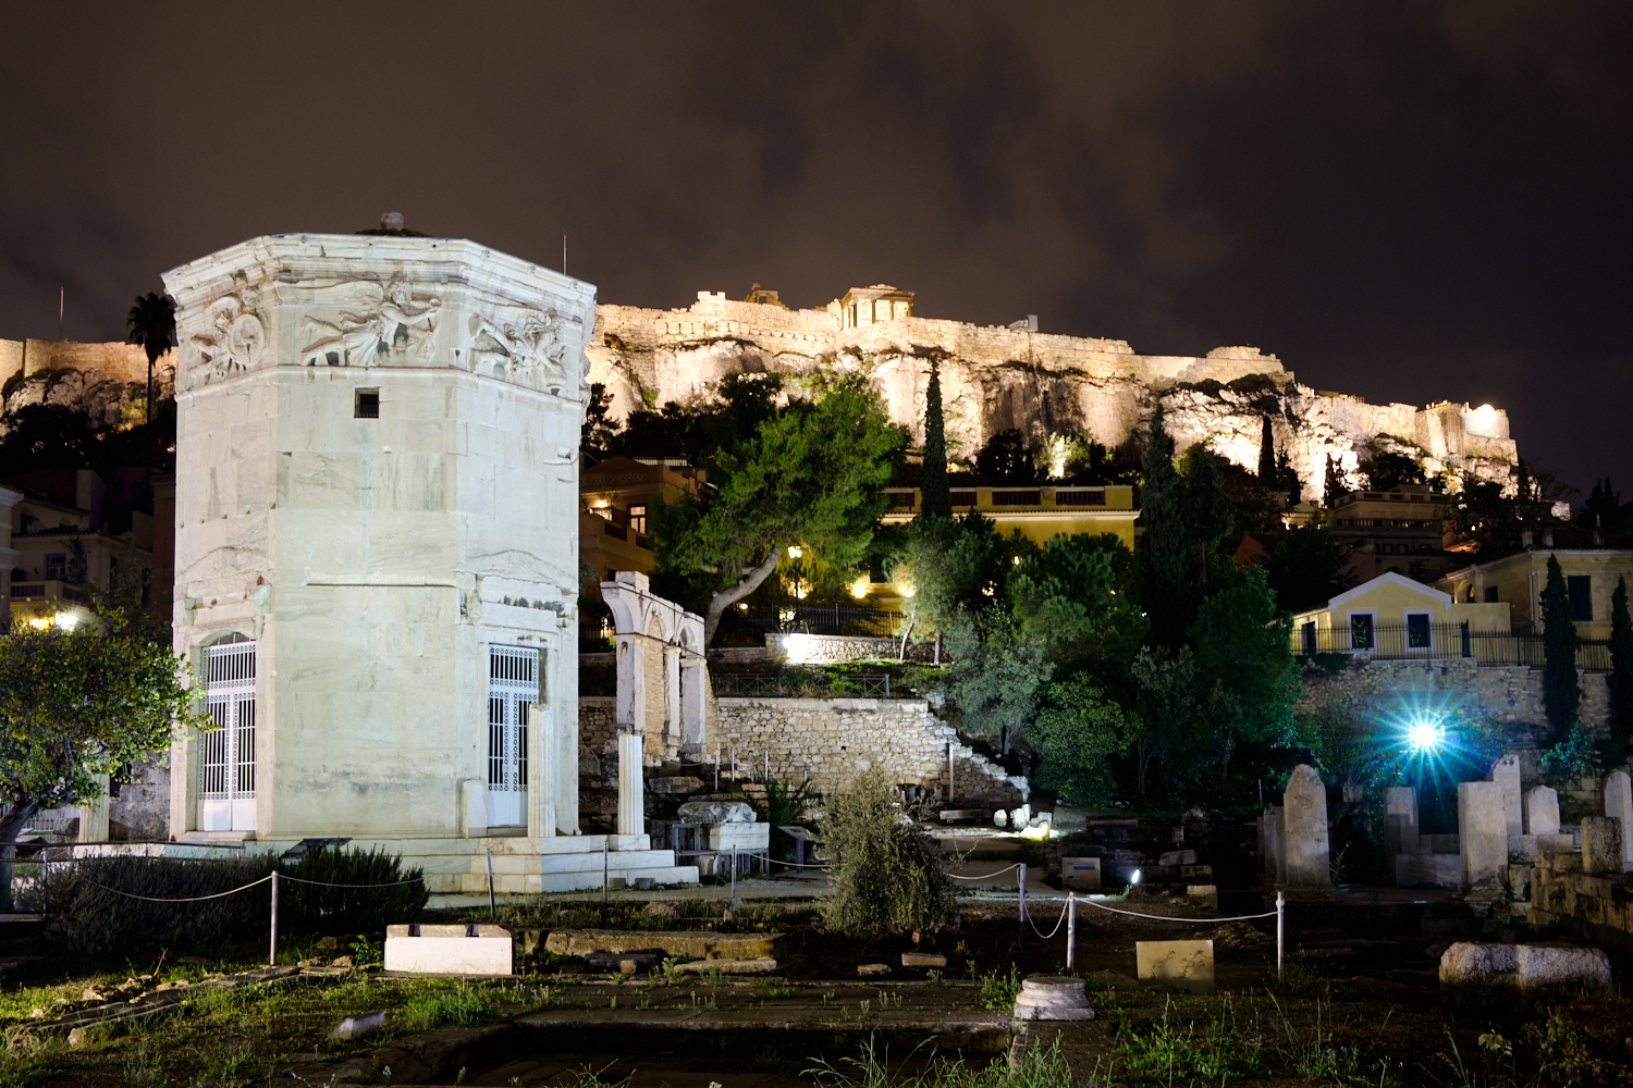
[[[452,889],[483,840],[576,835],[594,289],[389,235],[253,238],[163,279],[175,646],[220,726],[173,747],[173,837],[346,835]]]

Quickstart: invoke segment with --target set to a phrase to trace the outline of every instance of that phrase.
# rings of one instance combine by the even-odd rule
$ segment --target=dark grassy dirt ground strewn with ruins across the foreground
[[[1159,905],[1141,909],[1163,910]],[[1179,907],[1168,907],[1181,910]],[[1034,902],[1032,922],[1050,933],[1058,904]],[[1282,977],[1275,972],[1270,923],[1205,927],[1146,922],[1083,910],[1073,972],[1088,982],[1096,1019],[1040,1028],[1027,1041],[1060,1062],[988,1073],[994,1054],[918,1049],[926,1033],[892,1029],[880,1010],[911,1023],[936,1019],[937,1008],[1004,1010],[1029,974],[1066,972],[1066,935],[1040,936],[1022,927],[1011,902],[975,902],[954,931],[919,935],[919,951],[947,956],[941,972],[901,967],[911,935],[852,941],[821,930],[810,904],[743,904],[730,920],[723,902],[578,902],[508,909],[501,920],[554,928],[715,928],[785,935],[784,971],[772,980],[694,979],[661,972],[607,979],[581,961],[542,958],[516,980],[382,979],[364,971],[300,977],[289,985],[251,987],[230,997],[189,1000],[176,1016],[127,1033],[28,1042],[23,1026],[36,1008],[80,1003],[87,987],[129,977],[144,985],[198,980],[211,971],[247,966],[253,948],[193,949],[193,962],[168,958],[96,964],[42,944],[0,949],[11,967],[0,975],[0,1018],[7,1050],[0,1088],[8,1085],[240,1085],[300,1083],[289,1070],[300,1060],[323,1064],[376,1044],[405,1046],[410,1028],[492,1023],[581,1010],[568,1033],[513,1033],[511,1042],[472,1059],[469,1085],[650,1085],[660,1088],[782,1088],[784,1085],[1626,1085],[1633,1083],[1633,1003],[1620,993],[1462,995],[1439,987],[1439,954],[1448,940],[1426,933],[1417,917],[1391,920],[1311,918],[1290,925]],[[487,912],[482,912],[483,915]],[[1137,982],[1135,941],[1213,940],[1218,992],[1168,993]],[[294,946],[286,956],[322,956]],[[202,961],[202,962],[196,962]],[[325,961],[327,962],[327,961]],[[890,964],[888,975],[862,979],[861,964]],[[893,1002],[893,1005],[892,1005]],[[707,1006],[722,1019],[709,1031],[660,1033],[619,1028],[622,1010]],[[343,1016],[387,1010],[389,1031],[366,1044],[325,1039]],[[607,1010],[604,1015],[596,1010]],[[612,1010],[621,1010],[616,1018]],[[803,1011],[802,1011],[803,1010]],[[841,1010],[844,1031],[816,1031]],[[905,1011],[900,1011],[905,1010]],[[919,1021],[913,1021],[913,1015]],[[826,1019],[823,1019],[826,1018]],[[903,1023],[908,1023],[903,1021]],[[606,1028],[598,1028],[598,1024]],[[710,1021],[712,1023],[712,1021]],[[392,1026],[395,1024],[395,1026]],[[782,1024],[774,1028],[772,1024]],[[805,1024],[802,1031],[789,1024]],[[856,1028],[851,1028],[856,1024]],[[911,1026],[911,1024],[910,1024]],[[865,1031],[864,1031],[865,1028]],[[874,1037],[875,1062],[859,1047]],[[812,1070],[830,1064],[826,1078]],[[939,1062],[939,1064],[937,1064]],[[947,1064],[954,1062],[954,1064]],[[312,1080],[312,1065],[307,1083]],[[398,1070],[392,1083],[410,1083]],[[960,1080],[962,1077],[962,1080]],[[382,1083],[382,1081],[376,1081]],[[452,1083],[447,1078],[446,1083]]]

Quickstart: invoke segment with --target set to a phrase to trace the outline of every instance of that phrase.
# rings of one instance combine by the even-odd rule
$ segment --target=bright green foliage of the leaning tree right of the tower
[[[743,398],[733,408],[750,414],[761,403]],[[838,568],[865,556],[883,509],[874,494],[905,437],[859,378],[813,385],[810,398],[768,408],[714,455],[710,491],[655,512],[658,566],[697,577],[707,597],[705,641],[790,545]]]

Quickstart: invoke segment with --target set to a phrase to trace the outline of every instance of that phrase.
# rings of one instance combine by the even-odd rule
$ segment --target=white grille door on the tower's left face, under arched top
[[[255,829],[255,643],[204,651],[211,729],[199,734],[199,829]]]

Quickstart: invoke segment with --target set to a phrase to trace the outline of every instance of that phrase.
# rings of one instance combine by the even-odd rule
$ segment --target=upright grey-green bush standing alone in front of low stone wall
[[[885,927],[934,930],[954,912],[941,850],[901,814],[879,772],[828,798],[818,822],[833,894],[823,904],[830,930],[874,936]]]

